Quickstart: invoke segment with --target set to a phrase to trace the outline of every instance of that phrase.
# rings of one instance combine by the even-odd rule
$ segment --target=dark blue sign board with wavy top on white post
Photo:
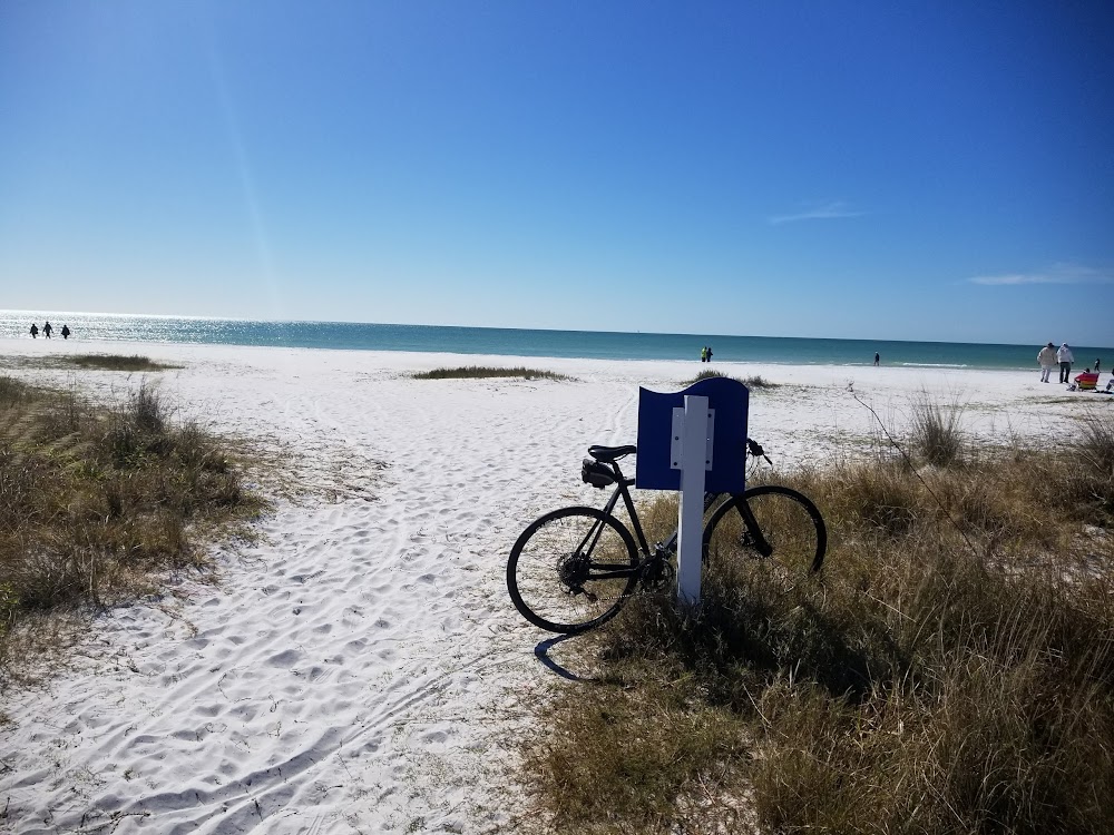
[[[710,493],[741,493],[746,477],[746,410],[751,393],[737,380],[709,377],[683,392],[659,393],[638,389],[638,462],[635,487],[639,490],[680,490],[681,470],[674,469],[673,410],[684,409],[685,395],[707,397],[715,413],[712,433],[712,469],[704,474]]]

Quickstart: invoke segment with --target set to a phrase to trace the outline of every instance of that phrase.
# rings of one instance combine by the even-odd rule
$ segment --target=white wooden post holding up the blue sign
[[[704,536],[704,474],[712,469],[715,414],[707,397],[686,394],[684,409],[673,410],[672,469],[681,470],[677,525],[677,599],[700,602]]]

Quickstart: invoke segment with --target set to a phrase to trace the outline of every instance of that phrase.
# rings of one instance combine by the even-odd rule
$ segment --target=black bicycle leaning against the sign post
[[[747,454],[770,462],[761,444],[747,439]],[[635,587],[664,589],[676,576],[678,532],[651,548],[631,498],[619,459],[634,445],[589,446],[580,479],[615,490],[603,510],[575,505],[554,510],[531,522],[507,560],[507,589],[515,608],[528,621],[551,632],[577,633],[618,613]],[[828,528],[817,505],[804,494],[778,484],[750,488],[729,495],[704,494],[703,556],[707,561],[725,549],[754,559],[776,559],[792,572],[815,573],[828,550]],[[619,499],[634,536],[613,511]],[[636,539],[637,538],[637,539]]]

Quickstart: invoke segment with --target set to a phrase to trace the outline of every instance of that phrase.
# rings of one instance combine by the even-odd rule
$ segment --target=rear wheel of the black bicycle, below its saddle
[[[631,532],[595,508],[563,508],[532,522],[507,560],[515,608],[551,632],[583,632],[613,618],[638,580]]]

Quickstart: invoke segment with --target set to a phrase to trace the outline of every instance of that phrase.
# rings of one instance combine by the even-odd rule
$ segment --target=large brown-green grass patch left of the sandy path
[[[0,675],[40,616],[114,605],[255,517],[243,459],[141,381],[111,407],[0,377]],[[48,630],[42,630],[46,636]]]

